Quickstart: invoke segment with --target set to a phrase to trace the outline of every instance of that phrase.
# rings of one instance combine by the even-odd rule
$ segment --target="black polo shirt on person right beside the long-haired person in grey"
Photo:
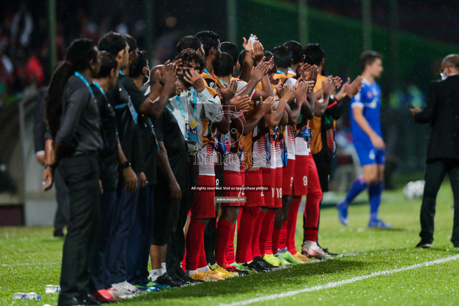
[[[102,188],[104,191],[116,191],[119,161],[115,110],[96,85],[92,84],[91,88],[101,116],[103,148],[99,154],[99,168]]]

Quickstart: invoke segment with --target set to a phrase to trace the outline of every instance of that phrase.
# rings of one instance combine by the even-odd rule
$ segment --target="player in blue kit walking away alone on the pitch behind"
[[[364,189],[369,188],[369,227],[390,228],[391,224],[378,219],[381,204],[382,179],[385,163],[385,147],[381,133],[381,89],[375,78],[381,76],[382,56],[375,51],[365,51],[360,56],[362,77],[360,93],[350,103],[353,143],[364,174],[357,178],[346,198],[338,204],[338,218],[347,225],[347,207]]]

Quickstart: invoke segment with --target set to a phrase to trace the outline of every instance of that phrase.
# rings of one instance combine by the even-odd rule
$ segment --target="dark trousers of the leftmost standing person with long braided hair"
[[[99,161],[96,155],[64,157],[59,171],[68,187],[69,220],[62,251],[58,305],[89,294],[90,261],[99,228]]]

